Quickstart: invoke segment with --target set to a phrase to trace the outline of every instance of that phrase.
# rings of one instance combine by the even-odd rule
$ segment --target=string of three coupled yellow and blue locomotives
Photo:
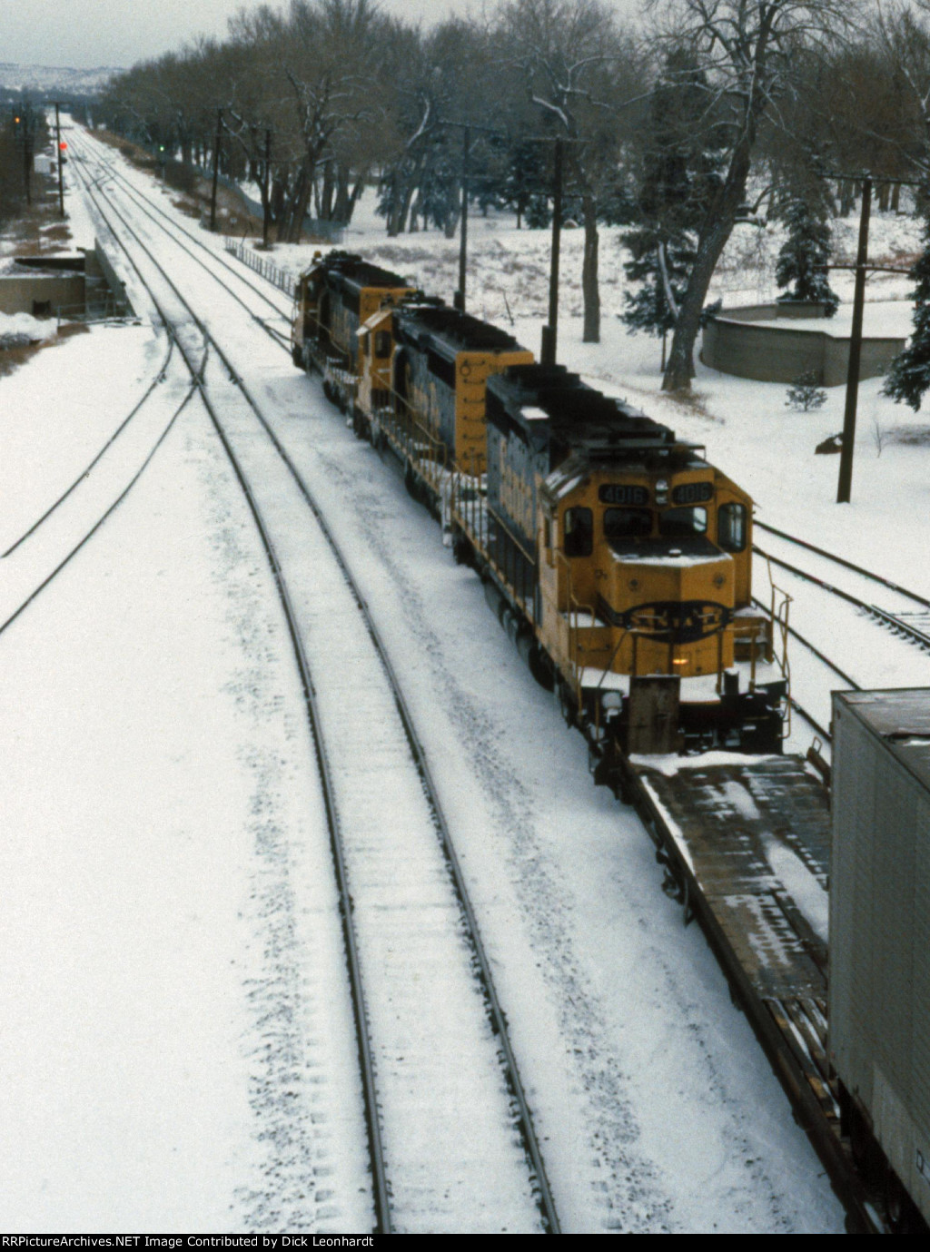
[[[752,502],[700,446],[344,253],[302,275],[294,346],[479,571],[600,781],[618,752],[781,750],[785,631],[776,659]]]

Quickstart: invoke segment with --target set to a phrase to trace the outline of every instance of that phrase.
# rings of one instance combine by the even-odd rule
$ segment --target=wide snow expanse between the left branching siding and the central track
[[[335,901],[299,685],[237,491],[188,411],[0,642],[5,1231],[319,1229],[317,1171],[359,1171],[327,1159],[300,1082],[350,1027],[314,926]]]

